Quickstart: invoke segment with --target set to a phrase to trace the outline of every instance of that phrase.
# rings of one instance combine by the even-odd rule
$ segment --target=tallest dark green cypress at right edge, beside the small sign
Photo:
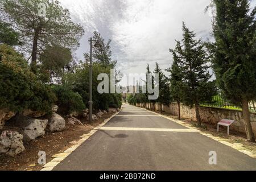
[[[243,110],[247,139],[255,142],[249,101],[256,99],[256,7],[248,0],[214,0],[213,68],[217,84],[228,100]]]

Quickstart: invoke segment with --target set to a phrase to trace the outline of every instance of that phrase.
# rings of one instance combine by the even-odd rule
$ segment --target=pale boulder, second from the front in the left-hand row
[[[22,127],[24,141],[29,142],[30,140],[43,136],[46,133],[47,123],[47,119],[28,119]]]

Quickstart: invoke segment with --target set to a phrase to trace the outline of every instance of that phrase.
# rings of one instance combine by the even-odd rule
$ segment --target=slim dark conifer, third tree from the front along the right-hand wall
[[[176,54],[176,49],[170,49],[173,55],[174,63],[171,68],[167,69],[170,72],[170,93],[171,100],[176,101],[178,105],[178,117],[180,119],[180,102],[182,101],[182,89],[183,89],[183,75],[181,69],[179,68],[178,62],[179,57]]]

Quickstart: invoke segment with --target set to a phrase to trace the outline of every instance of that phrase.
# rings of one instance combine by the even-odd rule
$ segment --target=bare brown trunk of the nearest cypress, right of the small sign
[[[253,128],[251,127],[250,111],[249,111],[247,99],[242,100],[242,110],[243,110],[243,120],[245,121],[244,124],[245,124],[245,132],[247,135],[247,140],[249,140],[250,142],[255,142]]]

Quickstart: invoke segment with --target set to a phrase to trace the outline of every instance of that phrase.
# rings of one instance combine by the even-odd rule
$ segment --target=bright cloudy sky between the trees
[[[112,39],[113,59],[125,74],[144,73],[146,64],[162,69],[172,63],[169,48],[180,40],[182,21],[203,40],[212,39],[211,16],[205,13],[210,0],[60,0],[72,19],[85,29],[76,56],[89,51],[88,38],[98,31]],[[253,0],[256,5],[256,0]]]

